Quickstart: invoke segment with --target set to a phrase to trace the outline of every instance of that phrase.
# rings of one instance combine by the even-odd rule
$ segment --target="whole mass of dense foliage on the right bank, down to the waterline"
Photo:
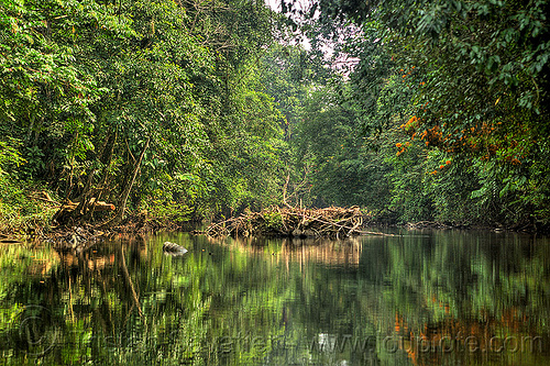
[[[305,122],[323,169],[317,197],[400,221],[548,224],[548,1],[286,7],[305,14],[312,44],[334,49],[333,65],[352,60],[339,101],[317,100]],[[352,132],[369,138],[349,149]]]

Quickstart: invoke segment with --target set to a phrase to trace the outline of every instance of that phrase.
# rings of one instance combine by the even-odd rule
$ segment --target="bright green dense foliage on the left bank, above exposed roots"
[[[7,0],[0,9],[0,165],[10,184],[45,182],[82,202],[75,220],[91,218],[91,198],[114,202],[116,221],[127,207],[188,220],[278,201],[284,117],[257,86],[279,16],[268,8]],[[6,185],[2,200],[13,203]]]

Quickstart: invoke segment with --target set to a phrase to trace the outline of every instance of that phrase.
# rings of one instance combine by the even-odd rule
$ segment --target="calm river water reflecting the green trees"
[[[0,355],[41,365],[547,365],[550,241],[119,236],[0,244]],[[189,252],[163,254],[165,241]]]

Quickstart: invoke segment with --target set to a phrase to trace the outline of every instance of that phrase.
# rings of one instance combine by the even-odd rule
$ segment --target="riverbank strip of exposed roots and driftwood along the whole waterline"
[[[0,243],[25,240],[48,241],[62,249],[74,249],[88,242],[97,242],[118,233],[155,233],[160,231],[194,231],[201,222],[174,220],[169,215],[151,214],[147,211],[130,211],[120,224],[105,228],[102,223],[112,215],[98,212],[95,220],[75,225],[59,225],[55,213],[62,207],[53,192],[28,190],[18,204],[2,204],[0,210]],[[54,197],[54,198],[52,198]],[[288,236],[342,239],[351,235],[373,234],[369,226],[429,229],[475,229],[487,231],[514,231],[548,234],[548,228],[534,225],[450,224],[437,221],[395,223],[387,218],[376,217],[359,207],[298,209],[272,207],[262,212],[246,211],[224,221],[213,222],[205,232],[210,236]],[[374,233],[380,234],[380,233]]]

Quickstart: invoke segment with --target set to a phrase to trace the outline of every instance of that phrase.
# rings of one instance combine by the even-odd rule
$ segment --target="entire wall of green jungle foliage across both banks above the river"
[[[548,1],[280,4],[3,0],[0,221],[46,189],[80,202],[66,222],[287,203],[549,224]]]

